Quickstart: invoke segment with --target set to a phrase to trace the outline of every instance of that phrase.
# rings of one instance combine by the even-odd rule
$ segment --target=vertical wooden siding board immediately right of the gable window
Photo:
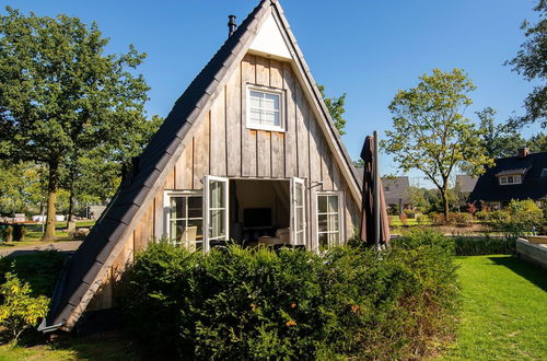
[[[296,94],[294,93],[295,78],[291,66],[283,62],[283,89],[286,90],[286,133],[284,133],[284,176],[295,177],[296,171]]]

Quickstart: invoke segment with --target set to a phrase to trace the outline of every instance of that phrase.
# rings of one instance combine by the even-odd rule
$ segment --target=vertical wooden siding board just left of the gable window
[[[226,84],[226,163],[229,176],[241,176],[241,65]]]

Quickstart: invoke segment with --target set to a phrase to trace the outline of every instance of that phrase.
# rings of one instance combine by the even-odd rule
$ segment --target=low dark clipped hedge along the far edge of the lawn
[[[515,238],[500,236],[457,236],[454,240],[456,256],[513,255]]]

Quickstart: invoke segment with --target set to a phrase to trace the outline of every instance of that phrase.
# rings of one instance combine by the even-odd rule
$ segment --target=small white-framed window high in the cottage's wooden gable
[[[247,128],[284,131],[283,93],[264,88],[247,88]]]

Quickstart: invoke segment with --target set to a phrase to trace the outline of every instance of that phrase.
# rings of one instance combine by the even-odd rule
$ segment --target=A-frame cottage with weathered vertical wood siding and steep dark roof
[[[113,307],[148,244],[193,249],[353,235],[360,185],[277,0],[263,0],[175,103],[63,270],[44,331]],[[115,292],[115,290],[114,290]]]

